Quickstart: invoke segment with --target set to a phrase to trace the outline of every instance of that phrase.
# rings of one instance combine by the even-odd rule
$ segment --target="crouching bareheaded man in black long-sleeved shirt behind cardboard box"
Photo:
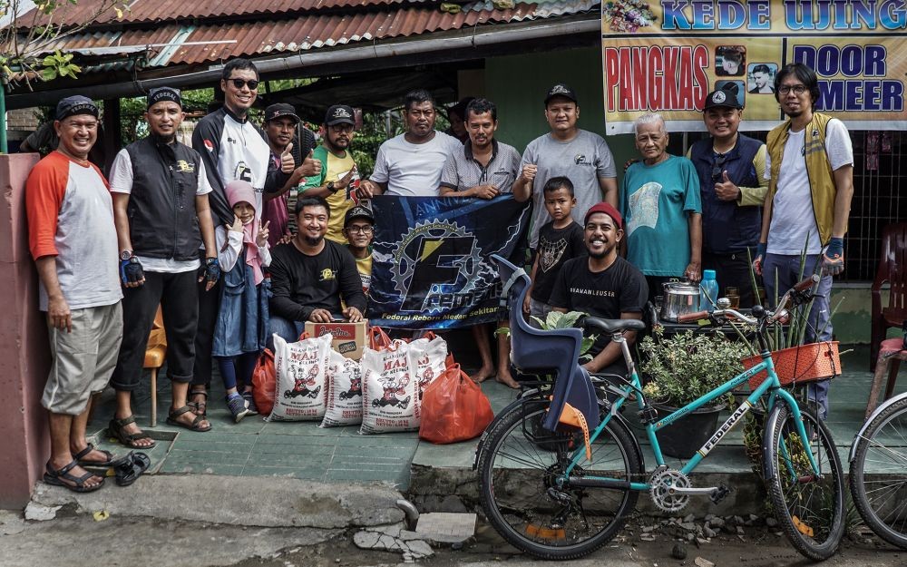
[[[322,197],[297,200],[297,234],[271,251],[270,331],[296,341],[306,321],[362,320],[366,294],[348,249],[325,240],[331,210]],[[346,303],[342,308],[340,299]]]

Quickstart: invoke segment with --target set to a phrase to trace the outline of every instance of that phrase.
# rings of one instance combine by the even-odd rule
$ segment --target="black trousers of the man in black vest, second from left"
[[[196,279],[194,269],[179,274],[145,272],[141,288],[123,289],[122,345],[111,377],[116,390],[132,391],[139,386],[148,335],[159,304],[167,336],[167,376],[174,382],[192,380],[199,318]]]

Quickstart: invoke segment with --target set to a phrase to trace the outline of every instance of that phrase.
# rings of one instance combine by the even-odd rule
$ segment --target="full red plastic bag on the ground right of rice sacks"
[[[466,441],[482,435],[493,419],[482,388],[453,365],[425,388],[419,438],[439,445]]]

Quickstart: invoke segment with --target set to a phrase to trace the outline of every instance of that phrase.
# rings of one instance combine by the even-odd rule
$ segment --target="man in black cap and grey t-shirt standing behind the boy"
[[[536,249],[539,229],[551,220],[545,209],[543,191],[552,177],[572,181],[576,206],[573,220],[582,222],[586,211],[601,200],[618,205],[617,170],[608,144],[599,134],[580,130],[580,103],[576,93],[563,83],[555,84],[545,95],[545,118],[551,132],[529,142],[522,154],[521,174],[513,184],[513,194],[532,187],[532,232],[529,246]]]

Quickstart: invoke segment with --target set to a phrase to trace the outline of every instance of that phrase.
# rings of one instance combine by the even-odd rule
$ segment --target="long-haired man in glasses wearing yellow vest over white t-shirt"
[[[807,341],[832,337],[832,276],[844,270],[844,233],[853,197],[853,147],[844,123],[814,112],[819,99],[815,72],[787,64],[775,75],[775,99],[788,120],[768,132],[768,194],[754,268],[769,302],[803,277],[821,270],[809,315]],[[775,287],[776,286],[776,287]],[[828,381],[810,385],[810,399],[828,414]]]

